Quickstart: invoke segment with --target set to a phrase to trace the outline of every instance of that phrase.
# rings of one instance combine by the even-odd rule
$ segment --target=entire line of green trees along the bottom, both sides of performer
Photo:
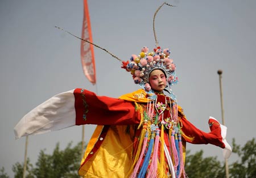
[[[240,146],[232,142],[233,154],[238,155],[238,159],[229,164],[230,178],[255,178],[256,177],[256,142],[255,138],[247,141],[245,145]],[[27,160],[26,178],[79,178],[77,170],[81,161],[81,143],[72,147],[69,143],[64,150],[60,150],[57,143],[52,154],[46,154],[46,150],[41,150],[35,165]],[[185,171],[189,178],[193,177],[225,177],[225,163],[217,157],[203,158],[203,150],[190,154],[187,151]],[[15,178],[23,177],[23,163],[13,165]],[[0,178],[10,178],[5,169],[0,169]]]

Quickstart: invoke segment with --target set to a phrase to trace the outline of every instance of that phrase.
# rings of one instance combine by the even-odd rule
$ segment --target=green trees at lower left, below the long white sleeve
[[[71,145],[72,143],[68,143],[64,150],[60,150],[59,143],[57,143],[52,154],[46,154],[46,150],[41,150],[35,167],[28,159],[26,178],[79,177],[77,170],[80,167],[81,143],[74,147]],[[22,177],[23,164],[15,163],[13,171],[15,178]]]

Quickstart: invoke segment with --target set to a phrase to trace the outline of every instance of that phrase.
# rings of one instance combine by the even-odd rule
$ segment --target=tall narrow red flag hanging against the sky
[[[90,16],[87,0],[84,0],[84,20],[82,23],[82,39],[92,41],[92,31],[90,29]],[[94,62],[93,45],[86,41],[81,41],[81,62],[85,76],[92,84],[96,83],[96,70]]]

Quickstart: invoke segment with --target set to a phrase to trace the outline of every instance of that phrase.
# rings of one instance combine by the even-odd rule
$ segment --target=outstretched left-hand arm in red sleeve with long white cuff
[[[138,123],[139,115],[133,102],[96,96],[93,92],[76,89],[57,94],[32,109],[18,122],[14,133],[18,139],[81,124]]]

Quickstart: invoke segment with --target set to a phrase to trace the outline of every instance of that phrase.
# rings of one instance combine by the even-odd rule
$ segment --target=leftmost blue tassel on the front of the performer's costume
[[[148,145],[148,149],[147,149],[147,153],[146,156],[144,158],[142,167],[141,167],[141,171],[139,171],[139,175],[138,177],[144,177],[146,175],[147,172],[147,167],[148,167],[148,163],[150,162],[150,157],[151,157],[151,152],[153,149],[153,145],[154,145],[154,132],[151,132],[151,138],[150,138],[150,143]]]

